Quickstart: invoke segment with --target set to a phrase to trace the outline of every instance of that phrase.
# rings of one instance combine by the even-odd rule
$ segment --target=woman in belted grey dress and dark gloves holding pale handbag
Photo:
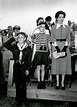
[[[66,74],[71,75],[71,56],[69,51],[70,44],[70,27],[64,25],[64,18],[66,13],[58,11],[55,14],[56,24],[51,30],[52,40],[52,74],[56,74],[56,89],[60,88],[60,75],[61,89],[65,90],[64,79]]]

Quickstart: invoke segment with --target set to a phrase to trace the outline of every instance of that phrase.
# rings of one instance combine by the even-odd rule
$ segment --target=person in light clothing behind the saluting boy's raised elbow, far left
[[[2,35],[2,44],[3,44],[9,38],[8,29],[2,30],[1,35]],[[7,79],[8,79],[10,58],[12,58],[12,53],[8,49],[3,47],[3,68],[4,68],[4,79],[5,79],[5,81],[7,81]]]

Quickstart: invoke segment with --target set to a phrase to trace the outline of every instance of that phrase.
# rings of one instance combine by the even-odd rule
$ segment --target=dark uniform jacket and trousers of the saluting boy
[[[13,53],[14,66],[13,66],[13,83],[16,87],[16,100],[26,100],[26,74],[25,71],[29,71],[31,63],[31,48],[27,45],[22,50],[22,59],[19,60],[21,50],[19,50],[17,43],[14,43],[15,39],[12,37],[3,44],[8,50]]]

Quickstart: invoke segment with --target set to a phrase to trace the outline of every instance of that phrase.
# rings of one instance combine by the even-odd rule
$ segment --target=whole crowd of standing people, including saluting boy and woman
[[[68,21],[68,25],[65,25],[63,23],[65,17],[66,13],[63,11],[56,12],[53,23],[51,16],[45,19],[39,17],[36,20],[36,29],[31,34],[31,41],[27,39],[28,35],[21,31],[19,25],[0,30],[0,84],[9,73],[9,60],[13,58],[16,101],[26,100],[26,76],[32,66],[36,69],[37,89],[46,88],[45,75],[50,59],[50,73],[56,75],[55,89],[65,90],[65,75],[72,74],[70,52],[72,23]]]

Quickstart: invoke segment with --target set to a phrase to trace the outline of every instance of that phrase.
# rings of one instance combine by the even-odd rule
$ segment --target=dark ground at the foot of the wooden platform
[[[0,85],[0,107],[17,107],[15,98],[7,97],[7,83]],[[77,107],[77,102],[28,99],[26,107]]]

